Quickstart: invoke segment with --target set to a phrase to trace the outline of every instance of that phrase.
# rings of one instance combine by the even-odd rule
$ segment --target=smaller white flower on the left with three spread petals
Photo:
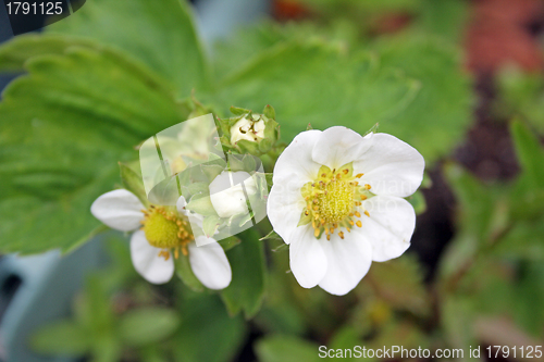
[[[131,257],[136,271],[148,282],[169,282],[174,274],[174,258],[182,252],[188,254],[193,272],[206,287],[223,289],[232,278],[225,252],[215,240],[206,236],[197,236],[197,239],[207,240],[196,246],[188,219],[191,217],[195,225],[193,217],[198,216],[189,214],[185,204],[181,197],[176,208],[151,205],[146,210],[134,194],[120,189],[100,196],[90,211],[114,229],[135,232],[131,238]],[[143,229],[138,229],[141,225]],[[171,253],[174,258],[170,258]]]

